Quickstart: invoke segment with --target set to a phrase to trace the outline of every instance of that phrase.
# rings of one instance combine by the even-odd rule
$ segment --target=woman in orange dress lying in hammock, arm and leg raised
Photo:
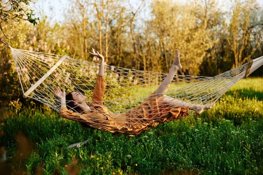
[[[91,127],[109,132],[121,132],[139,134],[144,130],[158,125],[161,122],[178,119],[188,115],[188,110],[194,110],[197,114],[204,109],[211,108],[214,104],[197,105],[186,103],[165,95],[174,74],[182,68],[179,50],[176,49],[175,58],[167,77],[160,86],[140,105],[125,111],[124,113],[112,113],[103,105],[102,97],[106,88],[104,78],[104,57],[93,49],[90,54],[100,58],[100,68],[93,91],[92,101],[88,105],[86,96],[79,92],[71,92],[66,95],[65,89],[56,89],[56,95],[61,100],[61,115],[65,118],[79,121]],[[66,105],[71,110],[67,108]]]

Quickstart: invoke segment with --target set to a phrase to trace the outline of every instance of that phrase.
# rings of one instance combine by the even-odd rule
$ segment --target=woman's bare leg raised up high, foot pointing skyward
[[[170,69],[168,75],[162,81],[160,86],[155,90],[155,94],[157,94],[157,95],[162,95],[165,92],[167,92],[167,90],[168,90],[168,88],[169,88],[169,86],[170,86],[170,84],[171,84],[171,82],[173,80],[173,77],[174,77],[175,73],[182,68],[182,65],[180,63],[179,50],[176,49],[175,51],[176,51],[176,53],[175,53],[175,57],[174,57],[174,60],[173,60],[173,64],[171,66],[171,69]]]

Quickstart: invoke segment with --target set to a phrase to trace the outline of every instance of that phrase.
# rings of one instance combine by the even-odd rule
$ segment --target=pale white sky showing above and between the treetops
[[[140,0],[129,0],[131,4],[138,5]],[[146,0],[147,1],[147,0]],[[189,0],[177,0],[181,2],[186,2]],[[257,0],[257,2],[263,6],[263,0]],[[225,7],[223,5],[225,0],[218,0],[219,6]],[[69,6],[69,0],[38,0],[33,7],[35,8],[35,13],[37,17],[47,15],[52,22],[60,22],[63,20],[65,15],[65,9]]]

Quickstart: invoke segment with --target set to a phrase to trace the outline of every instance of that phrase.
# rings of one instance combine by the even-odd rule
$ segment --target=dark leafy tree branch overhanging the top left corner
[[[34,25],[39,18],[34,17],[34,10],[29,7],[33,0],[0,0],[0,29],[7,37],[3,29],[3,23],[13,21],[28,20]]]

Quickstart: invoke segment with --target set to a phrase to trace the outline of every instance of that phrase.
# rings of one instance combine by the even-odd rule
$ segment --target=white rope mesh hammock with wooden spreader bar
[[[9,47],[12,50],[24,97],[38,100],[58,112],[61,112],[60,100],[54,93],[57,86],[64,88],[66,92],[85,93],[88,103],[92,100],[99,69],[98,63],[73,59],[66,55]],[[176,75],[165,95],[193,104],[215,103],[236,81],[245,78],[262,64],[263,56],[214,77]],[[135,110],[136,106],[156,90],[166,75],[160,72],[105,65],[107,86],[103,104],[115,115],[127,110]],[[186,112],[186,114],[194,113],[191,110]],[[137,116],[134,115],[119,123],[110,123],[98,119],[95,114],[94,119],[92,115],[89,115],[88,119],[83,119],[83,116],[79,115],[71,115],[68,118],[101,130],[128,134],[139,134],[160,122],[176,119],[176,117],[168,119],[161,116],[135,119]]]

